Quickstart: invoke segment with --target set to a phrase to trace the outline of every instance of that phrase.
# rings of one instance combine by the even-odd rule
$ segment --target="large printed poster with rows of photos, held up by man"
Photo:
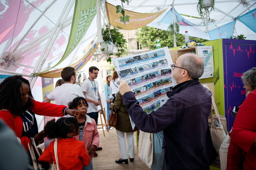
[[[169,99],[166,92],[177,84],[172,79],[173,61],[168,47],[114,58],[112,62],[147,114],[162,106]]]

